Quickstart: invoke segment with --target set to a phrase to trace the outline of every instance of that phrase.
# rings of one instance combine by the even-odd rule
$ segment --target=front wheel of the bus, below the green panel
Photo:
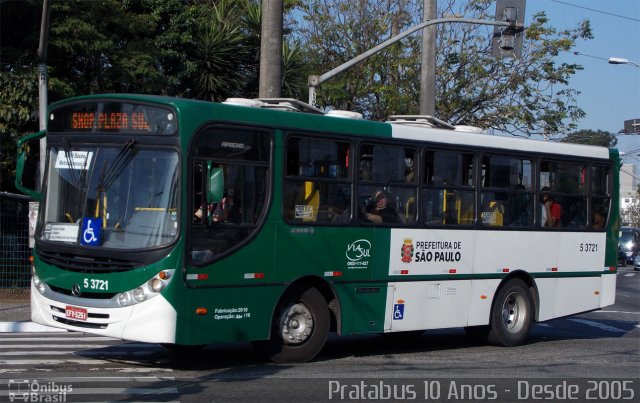
[[[307,362],[324,347],[329,335],[327,301],[315,288],[285,295],[272,321],[271,338],[253,343],[276,363]]]

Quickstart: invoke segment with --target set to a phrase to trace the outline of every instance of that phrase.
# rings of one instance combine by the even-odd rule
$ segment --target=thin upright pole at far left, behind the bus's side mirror
[[[47,77],[47,45],[49,42],[49,0],[42,2],[42,20],[40,23],[40,45],[38,46],[38,116],[40,130],[47,128],[48,77]],[[47,153],[47,139],[40,139],[40,163],[38,165],[38,177],[36,189],[42,189],[44,177],[44,161]]]

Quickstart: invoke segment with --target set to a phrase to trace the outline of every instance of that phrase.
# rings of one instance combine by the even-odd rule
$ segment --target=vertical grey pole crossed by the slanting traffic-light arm
[[[423,1],[424,21],[436,18],[436,0]],[[436,27],[422,31],[422,63],[420,67],[420,114],[436,114]]]

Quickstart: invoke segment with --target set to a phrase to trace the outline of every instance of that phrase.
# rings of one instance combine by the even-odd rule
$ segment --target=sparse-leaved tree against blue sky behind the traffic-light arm
[[[323,73],[420,22],[421,1],[323,0],[301,5],[301,38],[316,72]],[[493,20],[493,1],[440,1],[438,16]],[[588,21],[559,31],[544,13],[527,22],[522,58],[491,56],[493,28],[439,24],[437,38],[436,115],[453,124],[530,137],[556,137],[575,127],[584,112],[577,92],[567,85],[581,66],[558,64],[560,52],[580,38],[592,38]],[[374,119],[418,110],[419,44],[414,36],[323,83],[324,107],[353,107]]]

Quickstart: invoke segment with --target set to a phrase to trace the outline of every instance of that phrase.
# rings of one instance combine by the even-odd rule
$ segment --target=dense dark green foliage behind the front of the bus
[[[299,2],[285,1],[285,10]],[[4,176],[15,171],[15,139],[37,130],[41,12],[42,0],[0,0]],[[258,93],[260,0],[64,0],[51,1],[50,12],[49,102],[95,93],[216,101]],[[285,40],[287,96],[306,88],[304,56]],[[0,190],[12,182],[3,179]]]

